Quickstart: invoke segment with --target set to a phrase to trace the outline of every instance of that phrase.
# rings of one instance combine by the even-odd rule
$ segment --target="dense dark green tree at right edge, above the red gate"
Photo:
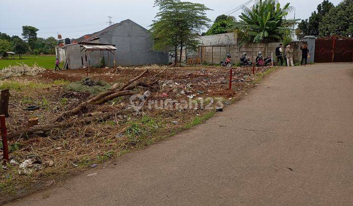
[[[320,22],[319,36],[353,37],[353,0],[343,0],[332,7]]]

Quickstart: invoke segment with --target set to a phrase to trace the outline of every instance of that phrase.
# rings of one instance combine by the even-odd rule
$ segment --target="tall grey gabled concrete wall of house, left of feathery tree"
[[[135,66],[147,64],[167,64],[168,52],[155,52],[151,48],[153,40],[148,30],[132,21],[123,23],[101,34],[100,43],[114,44],[116,65]],[[104,60],[108,63],[108,54],[104,52]],[[109,54],[110,65],[113,63],[113,54]]]

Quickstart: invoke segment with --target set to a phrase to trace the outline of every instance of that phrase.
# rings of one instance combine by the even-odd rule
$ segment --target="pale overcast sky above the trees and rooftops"
[[[154,0],[0,0],[0,32],[21,36],[22,26],[39,28],[39,37],[77,38],[99,31],[109,19],[119,23],[130,19],[148,28],[157,12]],[[214,20],[248,0],[189,0],[203,3],[213,11],[207,13]],[[323,0],[279,0],[296,8],[296,18],[307,19]],[[340,0],[330,0],[337,5]],[[252,4],[249,4],[251,6]],[[236,17],[239,12],[233,15]],[[294,12],[289,15],[293,18]]]

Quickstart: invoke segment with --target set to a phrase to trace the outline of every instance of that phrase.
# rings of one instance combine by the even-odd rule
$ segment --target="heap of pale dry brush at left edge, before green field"
[[[0,76],[4,76],[4,78],[18,77],[21,75],[35,76],[44,71],[46,71],[46,69],[38,66],[37,63],[34,63],[34,65],[30,67],[24,63],[17,63],[0,70]]]

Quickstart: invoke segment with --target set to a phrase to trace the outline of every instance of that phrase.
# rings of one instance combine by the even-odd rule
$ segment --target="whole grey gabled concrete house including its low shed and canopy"
[[[59,60],[68,62],[69,69],[94,67],[102,58],[110,67],[168,63],[168,52],[151,50],[150,32],[131,20],[82,36],[75,42],[56,48]]]

